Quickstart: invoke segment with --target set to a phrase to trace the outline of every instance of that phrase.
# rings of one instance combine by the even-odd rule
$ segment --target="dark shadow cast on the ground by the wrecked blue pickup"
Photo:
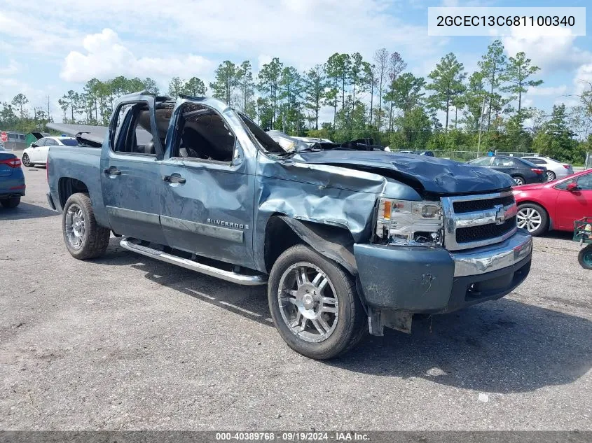
[[[109,255],[123,259],[133,254]],[[145,272],[146,279],[273,326],[266,286],[238,286],[140,256],[134,261],[132,267]],[[572,383],[591,369],[592,322],[506,298],[415,318],[412,335],[385,328],[384,337],[366,337],[350,353],[325,364],[491,393],[535,391]]]

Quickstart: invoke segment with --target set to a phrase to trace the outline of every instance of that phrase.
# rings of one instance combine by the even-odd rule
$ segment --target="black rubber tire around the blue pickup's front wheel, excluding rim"
[[[289,267],[299,262],[310,263],[321,269],[335,288],[334,297],[338,300],[338,318],[335,319],[337,324],[322,342],[307,342],[298,337],[282,318],[282,308],[277,296],[280,280]],[[349,351],[362,339],[368,328],[368,320],[352,276],[335,262],[302,244],[284,251],[274,263],[269,276],[268,303],[273,323],[282,339],[291,349],[309,358],[326,360]]]

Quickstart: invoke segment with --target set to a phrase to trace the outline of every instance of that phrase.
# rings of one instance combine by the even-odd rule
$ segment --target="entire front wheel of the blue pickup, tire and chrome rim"
[[[352,276],[305,245],[284,251],[273,265],[268,303],[282,339],[309,358],[338,356],[366,330]]]

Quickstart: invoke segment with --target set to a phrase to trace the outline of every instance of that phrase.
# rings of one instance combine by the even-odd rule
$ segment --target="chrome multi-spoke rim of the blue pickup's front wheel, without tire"
[[[277,289],[282,318],[305,342],[328,339],[337,326],[339,302],[329,277],[312,263],[299,262],[284,271]]]

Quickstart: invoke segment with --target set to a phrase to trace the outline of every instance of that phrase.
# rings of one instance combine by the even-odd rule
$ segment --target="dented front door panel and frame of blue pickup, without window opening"
[[[177,118],[179,109],[174,113]],[[174,125],[172,119],[171,125]],[[253,267],[254,177],[239,141],[231,162],[182,157],[169,131],[160,164],[160,223],[167,244],[207,258]]]

